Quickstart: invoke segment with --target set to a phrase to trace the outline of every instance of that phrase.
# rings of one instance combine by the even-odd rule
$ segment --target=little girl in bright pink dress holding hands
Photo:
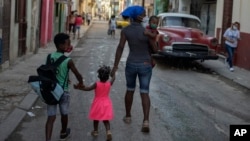
[[[112,140],[109,120],[112,120],[114,116],[112,101],[109,97],[109,92],[111,85],[115,80],[115,77],[112,77],[112,79],[108,81],[110,71],[110,67],[102,66],[97,71],[100,81],[95,82],[89,87],[77,87],[76,85],[74,85],[75,89],[80,89],[84,91],[95,90],[95,97],[89,112],[89,118],[94,122],[94,130],[91,132],[91,135],[98,135],[99,121],[103,121],[107,132],[107,141]]]

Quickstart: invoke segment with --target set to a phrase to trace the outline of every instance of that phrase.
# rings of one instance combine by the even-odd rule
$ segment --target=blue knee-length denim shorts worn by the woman
[[[152,76],[151,63],[127,63],[125,68],[127,91],[134,91],[136,78],[139,78],[140,93],[149,93],[149,84]]]

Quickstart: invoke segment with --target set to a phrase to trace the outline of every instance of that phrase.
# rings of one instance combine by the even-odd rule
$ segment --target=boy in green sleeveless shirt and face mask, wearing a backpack
[[[64,52],[71,46],[70,45],[70,37],[68,34],[65,33],[58,33],[54,37],[54,44],[56,46],[57,51],[51,53],[51,59],[56,61]],[[61,86],[64,86],[64,94],[62,95],[59,101],[59,109],[61,113],[61,124],[62,129],[60,132],[60,139],[64,140],[69,137],[70,135],[70,128],[68,128],[68,113],[69,113],[69,103],[70,103],[70,95],[69,95],[69,86],[68,83],[64,85],[64,82],[68,82],[68,73],[69,70],[73,72],[75,77],[78,80],[77,86],[83,86],[82,75],[78,72],[75,67],[75,64],[71,58],[65,59],[59,66],[58,66],[58,73],[57,73],[57,80]],[[56,119],[57,113],[57,105],[47,105],[47,114],[48,118],[46,121],[46,141],[51,140],[52,131],[53,131],[53,124]]]

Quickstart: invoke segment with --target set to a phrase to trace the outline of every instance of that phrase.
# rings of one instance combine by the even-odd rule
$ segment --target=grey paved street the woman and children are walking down
[[[116,38],[113,39],[107,35],[107,27],[107,22],[93,23],[70,55],[83,75],[85,85],[97,80],[96,71],[100,65],[113,65],[120,29],[116,30]],[[205,68],[199,63],[180,67],[157,59],[150,86],[151,131],[149,134],[140,131],[143,116],[138,87],[132,106],[132,123],[125,124],[122,121],[126,90],[124,67],[128,51],[126,47],[110,94],[115,111],[115,118],[111,121],[114,141],[228,141],[229,125],[250,122],[249,90],[229,83],[212,71],[203,71]],[[93,126],[87,116],[94,91],[74,90],[72,86],[76,79],[72,74],[70,78],[69,127],[72,135],[68,140],[105,140],[102,123],[99,136],[93,138],[90,135]],[[7,141],[45,140],[46,105],[38,100],[33,107],[31,112],[36,116],[27,115]],[[60,129],[58,114],[52,140],[59,139]]]

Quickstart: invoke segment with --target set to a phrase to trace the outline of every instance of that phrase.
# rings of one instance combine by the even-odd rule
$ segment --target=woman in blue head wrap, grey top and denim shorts
[[[149,85],[152,75],[151,55],[149,47],[156,51],[156,44],[154,39],[145,35],[145,28],[141,22],[145,17],[145,10],[142,6],[130,6],[122,12],[122,16],[130,17],[132,22],[129,26],[121,31],[121,37],[116,49],[115,62],[111,72],[111,76],[115,74],[118,69],[125,43],[128,41],[129,55],[126,61],[125,76],[127,90],[125,94],[125,109],[126,115],[124,117],[125,123],[131,122],[131,107],[133,102],[133,95],[135,92],[136,79],[139,78],[140,94],[143,108],[143,123],[142,132],[149,132]]]

